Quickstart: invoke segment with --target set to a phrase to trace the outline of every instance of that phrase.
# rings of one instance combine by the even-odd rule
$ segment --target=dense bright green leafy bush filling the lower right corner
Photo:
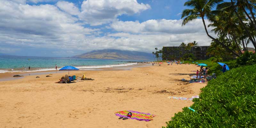
[[[256,65],[234,68],[208,82],[191,108],[175,114],[166,128],[255,128]]]

